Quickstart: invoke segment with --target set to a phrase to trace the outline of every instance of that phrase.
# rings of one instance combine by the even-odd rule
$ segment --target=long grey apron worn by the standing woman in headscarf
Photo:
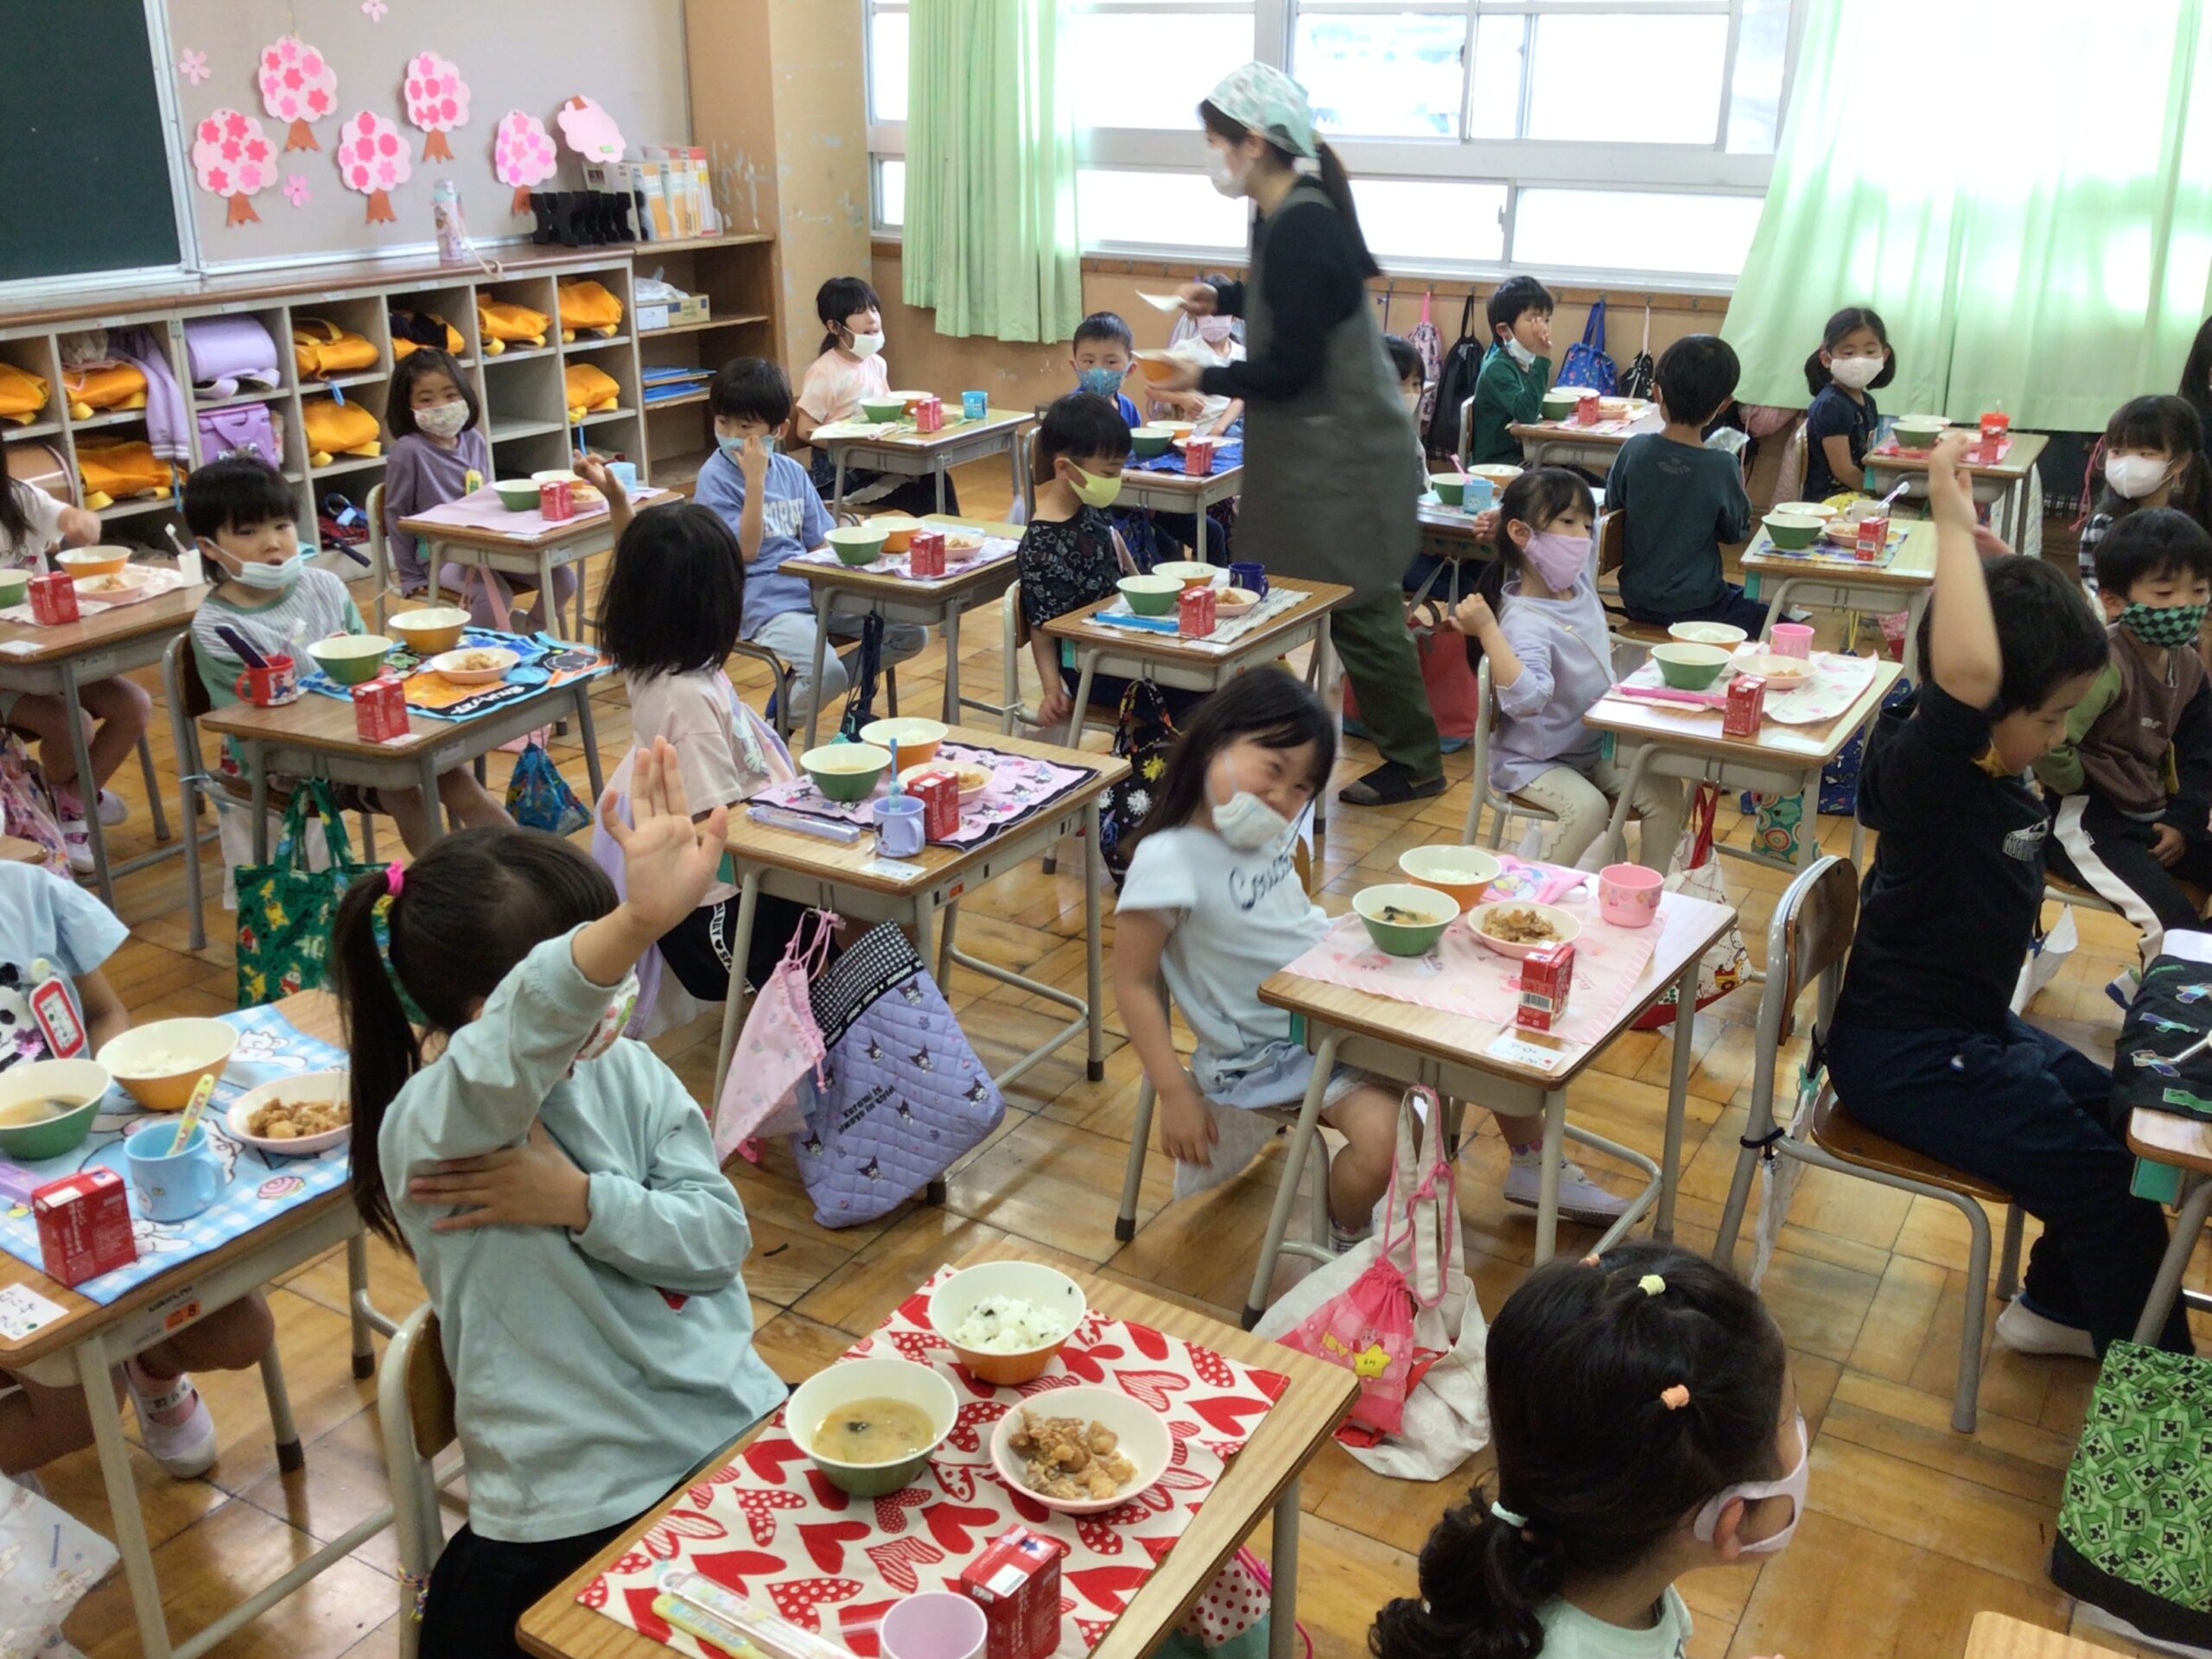
[[[1252,232],[1245,347],[1263,356],[1274,334],[1267,237],[1298,201],[1336,212],[1301,179]],[[1396,593],[1420,549],[1413,502],[1427,480],[1398,400],[1383,327],[1363,301],[1329,330],[1321,378],[1294,398],[1245,403],[1245,480],[1237,502],[1237,557],[1307,582],[1343,582],[1354,602]]]

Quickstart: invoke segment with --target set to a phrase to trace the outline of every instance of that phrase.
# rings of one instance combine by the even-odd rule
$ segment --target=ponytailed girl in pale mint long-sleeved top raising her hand
[[[692,823],[655,739],[630,818],[602,803],[622,900],[566,841],[489,827],[338,905],[354,1203],[422,1274],[469,1462],[422,1659],[520,1655],[531,1604],[783,1398],[706,1117],[622,1037],[633,967],[703,898],[728,807]]]

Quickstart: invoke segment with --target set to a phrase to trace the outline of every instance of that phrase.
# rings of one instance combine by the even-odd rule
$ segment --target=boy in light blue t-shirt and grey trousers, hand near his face
[[[823,677],[814,684],[814,591],[783,568],[792,555],[830,544],[830,511],[807,469],[776,447],[792,418],[792,385],[781,367],[757,356],[732,358],[714,372],[706,396],[714,411],[714,453],[699,469],[692,500],[737,535],[745,560],[741,635],[790,664],[787,712],[803,723],[816,697],[836,701],[849,684],[834,653],[823,655]],[[858,633],[858,617],[830,624],[832,639]],[[927,637],[911,622],[887,626],[883,661],[905,661]]]

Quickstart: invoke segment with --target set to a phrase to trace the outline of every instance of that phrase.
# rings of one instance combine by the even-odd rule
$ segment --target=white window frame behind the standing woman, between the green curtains
[[[1449,181],[1504,186],[1502,208],[1502,259],[1467,261],[1444,257],[1380,259],[1389,272],[1440,274],[1462,279],[1493,279],[1515,270],[1515,219],[1520,195],[1526,188],[1546,190],[1621,190],[1655,195],[1712,195],[1712,197],[1765,197],[1774,177],[1772,153],[1730,153],[1728,126],[1734,102],[1736,49],[1743,33],[1747,0],[1073,0],[1079,11],[1104,13],[1252,13],[1252,55],[1259,62],[1290,69],[1292,38],[1298,15],[1374,15],[1418,11],[1433,15],[1467,18],[1467,55],[1462,58],[1460,124],[1455,137],[1332,137],[1336,153],[1354,179],[1391,179],[1405,184]],[[1783,38],[1783,77],[1776,95],[1776,133],[1790,113],[1790,97],[1796,84],[1796,55],[1805,35],[1805,13],[1809,0],[1787,0],[1790,18]],[[880,11],[911,13],[914,0],[867,0],[867,58],[874,55],[874,18]],[[1471,86],[1473,86],[1473,40],[1482,18],[1520,15],[1540,27],[1544,15],[1725,15],[1728,46],[1721,64],[1721,97],[1714,113],[1714,133],[1705,144],[1621,144],[1606,139],[1471,139]],[[1515,128],[1526,131],[1531,111],[1533,53],[1522,58],[1522,95],[1515,113]],[[874,73],[869,62],[869,77]],[[869,91],[872,100],[872,91]],[[1108,168],[1117,173],[1199,173],[1199,126],[1188,131],[1091,126],[1077,128],[1077,168]],[[907,155],[905,122],[876,122],[869,102],[867,146],[869,168],[869,223],[878,239],[896,241],[902,226],[883,221],[883,199],[876,181],[885,159],[902,161]],[[1157,241],[1084,241],[1086,257],[1104,259],[1221,259],[1239,261],[1243,248],[1190,246],[1172,239]],[[1670,292],[1717,292],[1734,288],[1739,272],[1670,272],[1663,279],[1648,270],[1626,268],[1557,268],[1546,265],[1551,281],[1595,288],[1595,285],[1663,285]]]

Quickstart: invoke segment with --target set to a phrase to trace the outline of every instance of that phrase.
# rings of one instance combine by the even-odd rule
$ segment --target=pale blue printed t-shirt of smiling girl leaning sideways
[[[1190,1073],[1208,1095],[1228,1091],[1267,1044],[1290,1042],[1290,1015],[1259,1000],[1261,980],[1290,967],[1329,931],[1305,896],[1292,854],[1296,832],[1239,852],[1212,830],[1159,830],[1137,845],[1117,911],[1168,911],[1161,967],[1197,1051]]]

